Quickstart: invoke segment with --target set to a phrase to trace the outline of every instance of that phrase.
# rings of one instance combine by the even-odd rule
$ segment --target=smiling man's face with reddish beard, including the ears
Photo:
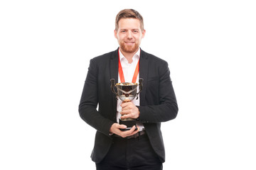
[[[122,52],[134,53],[144,38],[145,30],[141,30],[139,19],[122,18],[118,22],[118,30],[114,30]]]

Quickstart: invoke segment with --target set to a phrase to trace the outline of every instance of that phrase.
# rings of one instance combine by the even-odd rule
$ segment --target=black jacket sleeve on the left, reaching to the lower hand
[[[85,85],[80,99],[79,114],[82,120],[85,120],[88,125],[104,133],[105,135],[109,135],[110,128],[114,122],[104,118],[97,111],[97,75],[97,64],[93,60],[90,60],[90,67],[87,72]]]

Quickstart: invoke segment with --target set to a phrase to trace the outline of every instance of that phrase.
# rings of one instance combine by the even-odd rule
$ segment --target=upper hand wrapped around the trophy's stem
[[[121,118],[139,118],[139,108],[137,108],[134,103],[132,102],[124,102],[121,104],[122,111],[121,111]]]

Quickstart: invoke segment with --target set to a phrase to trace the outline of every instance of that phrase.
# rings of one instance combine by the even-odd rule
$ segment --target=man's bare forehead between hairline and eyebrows
[[[140,29],[140,21],[137,18],[122,18],[118,22],[119,29]]]

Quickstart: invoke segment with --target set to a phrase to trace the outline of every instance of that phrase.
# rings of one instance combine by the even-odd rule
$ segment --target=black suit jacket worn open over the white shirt
[[[165,160],[161,122],[176,118],[178,106],[167,62],[141,50],[139,77],[144,79],[140,94],[139,120],[144,124],[151,146]],[[79,105],[82,120],[97,130],[92,161],[99,163],[112,145],[110,127],[116,122],[117,100],[110,79],[118,80],[118,49],[90,60]],[[98,106],[98,108],[97,108]]]

